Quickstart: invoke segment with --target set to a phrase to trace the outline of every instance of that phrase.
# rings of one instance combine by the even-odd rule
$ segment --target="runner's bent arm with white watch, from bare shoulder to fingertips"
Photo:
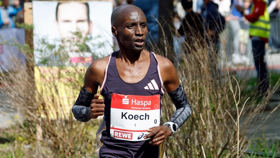
[[[151,145],[159,145],[163,143],[168,136],[171,136],[191,115],[191,106],[186,97],[183,87],[179,83],[177,71],[173,63],[164,58],[160,60],[161,77],[163,79],[165,88],[176,107],[175,113],[171,119],[162,126],[155,126],[147,129],[149,134],[144,138],[150,138]]]

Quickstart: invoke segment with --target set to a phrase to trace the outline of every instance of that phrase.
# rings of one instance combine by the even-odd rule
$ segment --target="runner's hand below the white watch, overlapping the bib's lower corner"
[[[151,141],[149,144],[151,145],[160,145],[172,134],[172,131],[167,125],[151,127],[147,129],[147,132],[150,133],[144,136],[144,138],[150,138]]]

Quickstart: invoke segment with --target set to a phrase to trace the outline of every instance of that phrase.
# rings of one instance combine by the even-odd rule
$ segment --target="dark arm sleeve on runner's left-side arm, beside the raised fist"
[[[87,112],[90,110],[90,104],[93,98],[94,95],[87,91],[85,87],[81,89],[80,94],[72,107],[72,113],[77,120],[83,122],[90,120],[90,118],[87,118]]]

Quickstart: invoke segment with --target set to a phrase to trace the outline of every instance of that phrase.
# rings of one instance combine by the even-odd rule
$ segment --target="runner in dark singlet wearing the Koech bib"
[[[80,121],[104,115],[97,131],[99,158],[164,158],[163,142],[190,117],[190,104],[172,62],[144,49],[148,29],[143,11],[120,5],[111,25],[119,50],[90,65],[73,115]],[[161,125],[163,85],[176,111]],[[95,94],[99,86],[104,98]]]

